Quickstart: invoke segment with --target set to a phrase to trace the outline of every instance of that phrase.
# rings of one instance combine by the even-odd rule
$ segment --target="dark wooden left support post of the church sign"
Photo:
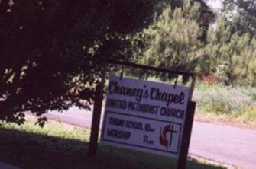
[[[96,86],[96,99],[93,107],[91,134],[89,138],[89,148],[87,153],[89,157],[92,157],[97,154],[104,84],[105,84],[105,69],[102,72],[102,80]]]

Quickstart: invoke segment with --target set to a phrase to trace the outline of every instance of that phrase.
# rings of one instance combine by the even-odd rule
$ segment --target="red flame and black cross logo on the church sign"
[[[159,136],[159,142],[160,145],[164,145],[166,149],[170,148],[173,141],[173,133],[177,133],[177,131],[173,130],[173,125],[169,124],[167,126],[164,126],[164,129],[160,128],[160,136]],[[170,132],[170,138],[167,138],[167,133]]]

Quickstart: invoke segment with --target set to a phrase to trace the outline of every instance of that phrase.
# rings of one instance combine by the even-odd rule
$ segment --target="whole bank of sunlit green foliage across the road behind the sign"
[[[203,4],[193,1],[175,8],[166,5],[154,23],[137,35],[144,43],[134,50],[134,59],[145,65],[193,70],[225,85],[255,86],[255,37],[235,31],[225,13],[208,27],[214,19],[205,11]],[[202,24],[206,14],[208,22]]]

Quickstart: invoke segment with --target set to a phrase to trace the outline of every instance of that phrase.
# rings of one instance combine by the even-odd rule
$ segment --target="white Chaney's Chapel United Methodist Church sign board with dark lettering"
[[[190,88],[109,78],[101,143],[177,158]]]

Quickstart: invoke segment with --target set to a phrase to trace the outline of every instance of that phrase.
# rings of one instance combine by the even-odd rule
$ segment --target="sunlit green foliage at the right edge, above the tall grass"
[[[209,29],[206,45],[200,49],[197,69],[214,75],[225,85],[255,85],[255,39],[248,33],[232,33],[228,22],[219,17],[216,27]]]

